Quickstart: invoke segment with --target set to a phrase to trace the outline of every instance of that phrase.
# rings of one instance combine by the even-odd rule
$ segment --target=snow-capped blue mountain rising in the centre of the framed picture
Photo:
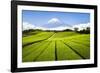
[[[47,24],[42,25],[41,27],[46,28],[47,30],[64,30],[67,28],[71,28],[70,25],[63,23],[58,18],[50,19]]]

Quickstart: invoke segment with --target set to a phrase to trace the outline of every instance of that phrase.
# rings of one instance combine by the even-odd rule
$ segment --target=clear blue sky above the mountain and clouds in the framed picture
[[[52,18],[58,18],[63,23],[69,25],[84,24],[90,22],[89,13],[75,12],[48,12],[48,11],[22,11],[23,22],[28,22],[32,25],[41,26],[47,24]]]

